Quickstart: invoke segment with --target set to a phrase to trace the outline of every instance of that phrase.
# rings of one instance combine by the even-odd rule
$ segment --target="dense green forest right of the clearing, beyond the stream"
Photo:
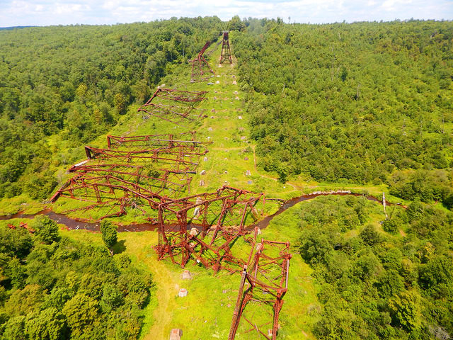
[[[234,37],[260,164],[283,181],[385,183],[451,166],[451,22],[250,19]]]

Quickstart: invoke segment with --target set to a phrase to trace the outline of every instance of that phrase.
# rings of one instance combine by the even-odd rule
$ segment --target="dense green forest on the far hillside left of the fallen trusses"
[[[45,199],[55,167],[217,39],[217,17],[0,32],[0,197]],[[52,143],[45,139],[55,137]]]

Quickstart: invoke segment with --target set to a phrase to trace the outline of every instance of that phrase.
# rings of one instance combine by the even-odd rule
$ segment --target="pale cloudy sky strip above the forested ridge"
[[[453,0],[0,0],[0,27],[115,24],[171,17],[291,23],[453,19]]]

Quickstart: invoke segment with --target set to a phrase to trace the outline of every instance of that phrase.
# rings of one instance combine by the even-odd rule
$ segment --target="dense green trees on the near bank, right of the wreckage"
[[[453,334],[453,215],[364,197],[319,197],[270,227],[297,233],[319,304],[317,339],[449,339]],[[381,220],[379,222],[379,220]]]

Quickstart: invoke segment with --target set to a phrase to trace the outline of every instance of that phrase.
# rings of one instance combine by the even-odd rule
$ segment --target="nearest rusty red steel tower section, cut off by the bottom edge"
[[[243,266],[229,340],[234,340],[241,320],[241,334],[256,332],[265,339],[277,339],[291,257],[289,242],[253,242],[248,263]]]

